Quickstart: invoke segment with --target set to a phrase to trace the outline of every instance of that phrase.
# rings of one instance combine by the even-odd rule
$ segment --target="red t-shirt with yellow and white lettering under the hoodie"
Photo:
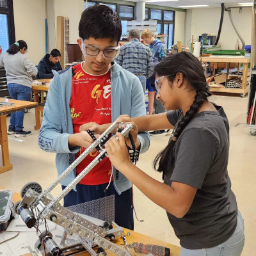
[[[72,93],[70,112],[74,133],[88,122],[108,124],[111,122],[111,79],[110,71],[102,75],[91,75],[83,70],[82,64],[72,67]],[[84,152],[81,148],[76,158]],[[76,175],[79,175],[88,164],[99,154],[91,152],[78,164]],[[79,183],[84,185],[99,185],[109,182],[111,162],[104,157]]]

